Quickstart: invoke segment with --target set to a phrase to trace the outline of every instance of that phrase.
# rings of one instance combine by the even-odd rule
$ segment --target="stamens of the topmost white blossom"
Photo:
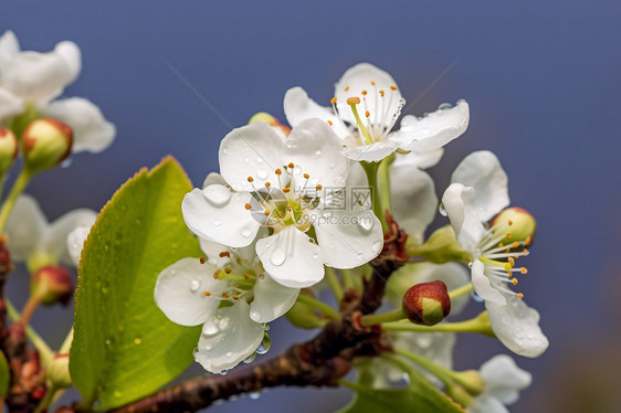
[[[346,86],[345,92],[348,91],[349,86]],[[371,145],[386,139],[406,104],[406,100],[399,97],[396,85],[391,85],[389,91],[378,89],[373,81],[370,82],[369,91],[362,89],[360,95],[361,97],[351,96],[346,100],[355,119],[355,123],[350,125],[350,128],[354,129],[355,146]],[[399,99],[397,107],[393,107],[394,99]],[[349,121],[341,116],[343,114],[337,106],[337,98],[333,97],[330,104],[339,121],[347,125]],[[364,113],[365,118],[360,116],[361,113]],[[331,121],[328,123],[331,125]],[[355,133],[356,130],[358,134]]]

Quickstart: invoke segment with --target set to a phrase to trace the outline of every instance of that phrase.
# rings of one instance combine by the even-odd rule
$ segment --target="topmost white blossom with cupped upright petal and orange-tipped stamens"
[[[341,138],[345,153],[357,161],[379,161],[397,149],[441,148],[462,135],[470,119],[467,103],[460,100],[423,117],[404,116],[401,128],[393,131],[406,99],[394,80],[369,63],[345,72],[330,103],[331,109],[323,107],[302,87],[293,87],[285,95],[284,110],[293,127],[308,118],[327,121]]]

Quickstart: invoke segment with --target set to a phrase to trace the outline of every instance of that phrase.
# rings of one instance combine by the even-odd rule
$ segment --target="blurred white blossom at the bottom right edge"
[[[484,362],[478,371],[485,380],[485,390],[474,398],[470,413],[508,413],[511,405],[519,398],[519,391],[530,385],[531,375],[515,364],[505,354]]]

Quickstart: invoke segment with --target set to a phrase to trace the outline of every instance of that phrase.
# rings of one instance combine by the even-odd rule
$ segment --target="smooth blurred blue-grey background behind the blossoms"
[[[469,130],[431,170],[436,191],[465,155],[490,149],[509,176],[513,204],[538,220],[520,286],[550,348],[539,359],[516,357],[534,381],[512,412],[621,411],[620,21],[612,0],[0,1],[0,32],[13,30],[23,50],[80,45],[82,75],[65,95],[90,98],[118,129],[103,153],[75,156],[32,182],[27,192],[50,219],[101,209],[167,153],[199,186],[218,169],[219,141],[232,127],[260,110],[284,121],[283,96],[296,85],[327,104],[359,62],[392,74],[407,113],[467,99]],[[12,275],[18,303],[27,284],[24,272]],[[71,306],[42,315],[34,327],[59,345]],[[313,336],[286,321],[271,333],[265,357]],[[477,368],[505,351],[461,336],[455,363]],[[330,412],[348,400],[346,390],[277,389],[210,411]]]

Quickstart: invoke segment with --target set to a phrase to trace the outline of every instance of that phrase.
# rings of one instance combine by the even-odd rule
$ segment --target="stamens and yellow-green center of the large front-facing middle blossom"
[[[278,177],[277,188],[265,182],[263,188],[253,184],[254,179],[248,177],[254,191],[250,202],[245,204],[254,219],[262,225],[280,232],[286,226],[295,225],[299,231],[307,232],[312,226],[310,211],[319,205],[319,194],[324,189],[319,183],[312,184],[310,176],[302,173],[293,162],[274,172]]]

